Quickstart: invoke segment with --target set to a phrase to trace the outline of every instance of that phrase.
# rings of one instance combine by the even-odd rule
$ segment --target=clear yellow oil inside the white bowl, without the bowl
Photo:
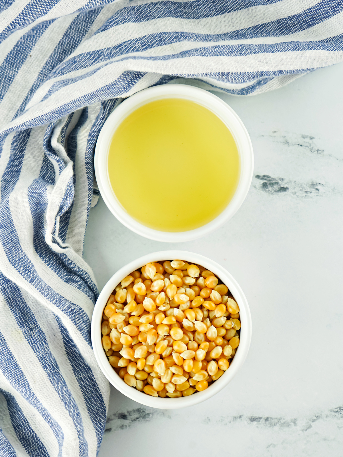
[[[240,159],[230,130],[192,101],[141,106],[119,125],[108,174],[123,208],[147,227],[182,232],[216,218],[232,199]]]

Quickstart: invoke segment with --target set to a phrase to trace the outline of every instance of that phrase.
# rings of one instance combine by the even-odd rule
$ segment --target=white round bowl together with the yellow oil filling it
[[[150,87],[124,100],[96,142],[104,202],[135,233],[156,241],[197,239],[243,203],[253,173],[241,119],[196,87]]]

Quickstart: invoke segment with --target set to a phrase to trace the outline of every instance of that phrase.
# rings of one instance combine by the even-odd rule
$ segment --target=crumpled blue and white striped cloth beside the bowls
[[[252,95],[341,60],[335,0],[0,2],[0,455],[95,456],[93,149],[151,85]],[[187,80],[185,79],[187,78]]]

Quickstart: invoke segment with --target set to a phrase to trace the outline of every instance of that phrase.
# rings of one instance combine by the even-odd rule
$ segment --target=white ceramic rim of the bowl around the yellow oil
[[[234,197],[225,210],[211,222],[186,232],[162,232],[146,227],[132,218],[118,201],[108,175],[108,151],[113,134],[123,119],[139,106],[162,98],[184,98],[208,108],[226,124],[232,133],[241,161],[241,175]],[[200,238],[216,228],[236,213],[247,196],[253,173],[253,152],[247,129],[237,114],[219,97],[197,87],[183,84],[166,84],[141,90],[124,100],[107,118],[96,142],[94,168],[96,182],[104,202],[114,216],[133,232],[156,241],[180,242]]]

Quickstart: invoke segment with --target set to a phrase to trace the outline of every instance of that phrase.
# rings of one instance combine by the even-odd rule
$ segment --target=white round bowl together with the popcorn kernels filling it
[[[247,299],[222,266],[186,251],[145,255],[115,273],[96,301],[91,340],[121,393],[153,408],[200,403],[243,364]]]

